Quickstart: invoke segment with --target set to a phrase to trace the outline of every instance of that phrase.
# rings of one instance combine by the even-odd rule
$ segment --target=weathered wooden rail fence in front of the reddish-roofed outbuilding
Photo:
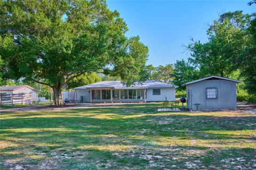
[[[19,93],[19,94],[5,94],[0,93],[0,107],[3,105],[14,105],[14,104],[32,104],[33,95],[29,93]]]

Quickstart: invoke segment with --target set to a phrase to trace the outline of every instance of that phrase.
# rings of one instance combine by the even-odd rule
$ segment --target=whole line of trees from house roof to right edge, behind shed
[[[188,81],[218,75],[243,80],[245,89],[256,95],[255,16],[255,13],[243,14],[242,11],[221,14],[209,25],[206,43],[191,39],[187,62],[181,60],[158,67],[148,65],[148,78],[174,83],[182,90],[185,89],[182,84]]]

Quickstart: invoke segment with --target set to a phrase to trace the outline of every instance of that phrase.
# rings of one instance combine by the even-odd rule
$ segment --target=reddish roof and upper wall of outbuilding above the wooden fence
[[[0,86],[0,93],[5,94],[19,94],[19,93],[37,93],[38,90],[30,87],[28,85],[19,85],[19,86]]]

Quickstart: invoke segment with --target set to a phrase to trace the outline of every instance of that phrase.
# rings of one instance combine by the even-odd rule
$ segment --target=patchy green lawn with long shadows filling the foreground
[[[255,169],[256,116],[158,104],[0,114],[0,169]]]

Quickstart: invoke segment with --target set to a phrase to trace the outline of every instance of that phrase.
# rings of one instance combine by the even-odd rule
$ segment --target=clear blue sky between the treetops
[[[107,1],[127,24],[127,36],[140,36],[149,48],[147,64],[175,63],[189,57],[185,46],[194,40],[207,41],[207,25],[219,14],[242,10],[256,12],[245,1]]]

